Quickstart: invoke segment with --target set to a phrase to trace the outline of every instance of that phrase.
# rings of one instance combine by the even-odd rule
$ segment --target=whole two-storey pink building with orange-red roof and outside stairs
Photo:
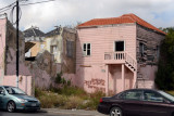
[[[165,34],[135,14],[78,25],[76,83],[88,92],[154,88]]]

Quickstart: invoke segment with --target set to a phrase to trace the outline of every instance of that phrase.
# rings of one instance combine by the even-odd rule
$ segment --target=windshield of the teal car
[[[23,90],[16,87],[4,87],[9,94],[26,94]]]

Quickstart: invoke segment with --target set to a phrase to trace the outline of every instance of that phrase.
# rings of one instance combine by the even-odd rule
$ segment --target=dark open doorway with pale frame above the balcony
[[[114,42],[114,51],[115,52],[121,52],[125,50],[125,44],[124,41],[115,41]]]

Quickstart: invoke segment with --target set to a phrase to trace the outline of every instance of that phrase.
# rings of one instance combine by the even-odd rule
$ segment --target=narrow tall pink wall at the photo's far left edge
[[[7,20],[0,18],[0,85],[4,75],[5,25]]]

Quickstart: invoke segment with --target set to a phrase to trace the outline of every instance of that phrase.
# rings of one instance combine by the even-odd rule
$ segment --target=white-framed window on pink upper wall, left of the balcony
[[[89,56],[91,54],[91,44],[90,43],[83,44],[83,53],[86,56]]]

